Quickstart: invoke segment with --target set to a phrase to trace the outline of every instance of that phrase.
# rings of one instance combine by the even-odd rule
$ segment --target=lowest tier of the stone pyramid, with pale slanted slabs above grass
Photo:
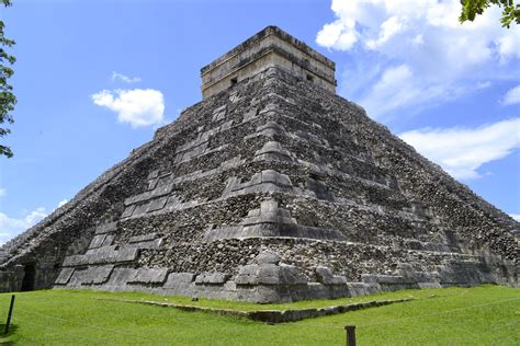
[[[329,268],[318,266],[318,281],[310,281],[299,267],[284,264],[275,254],[264,252],[251,264],[241,266],[235,276],[225,273],[170,273],[166,268],[94,266],[84,269],[64,268],[56,279],[56,282],[63,284],[54,287],[279,303],[402,289],[471,287],[483,284],[519,286],[516,277],[497,277],[494,270],[483,270],[482,263],[478,262],[438,265],[434,272],[417,272],[403,265],[400,273],[402,275],[362,274],[361,281],[349,282],[344,276],[332,275]]]

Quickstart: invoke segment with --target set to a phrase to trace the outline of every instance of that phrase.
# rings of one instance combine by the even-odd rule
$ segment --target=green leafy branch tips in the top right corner
[[[500,22],[504,27],[509,28],[512,22],[520,24],[520,4],[515,3],[515,0],[461,0],[461,23],[473,22],[477,14],[483,14],[488,7],[496,4],[502,9]]]

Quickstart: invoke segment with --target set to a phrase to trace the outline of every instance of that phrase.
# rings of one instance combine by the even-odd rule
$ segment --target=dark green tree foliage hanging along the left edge
[[[11,0],[0,0],[3,5],[10,7]],[[0,20],[0,124],[14,122],[10,112],[14,109],[16,97],[12,93],[12,85],[8,83],[8,79],[13,74],[13,69],[10,67],[16,60],[14,56],[8,54],[4,47],[12,47],[14,41],[7,38],[3,35],[3,21]],[[0,127],[0,138],[11,132],[9,128]],[[12,158],[11,148],[0,145],[0,157],[5,155]]]

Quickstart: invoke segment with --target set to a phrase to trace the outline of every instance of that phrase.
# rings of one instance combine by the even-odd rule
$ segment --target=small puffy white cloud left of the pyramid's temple
[[[92,101],[116,112],[118,122],[128,123],[134,128],[163,122],[165,100],[158,90],[102,90],[92,95]]]

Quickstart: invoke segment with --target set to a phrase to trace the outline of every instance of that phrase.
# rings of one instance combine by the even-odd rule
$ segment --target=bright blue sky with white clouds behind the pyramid
[[[0,243],[201,100],[200,69],[267,25],[337,64],[338,93],[520,218],[520,28],[459,0],[16,0],[19,99],[2,140]]]

